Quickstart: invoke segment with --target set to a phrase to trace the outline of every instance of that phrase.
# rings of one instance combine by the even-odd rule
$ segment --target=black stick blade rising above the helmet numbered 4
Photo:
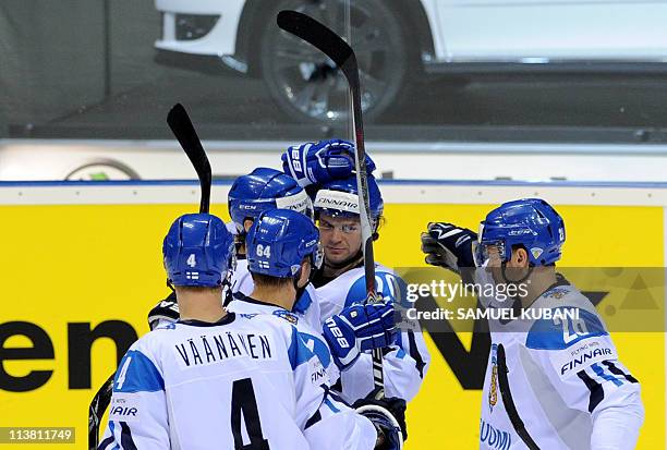
[[[199,136],[197,136],[197,132],[183,105],[175,104],[171,108],[167,114],[167,123],[197,172],[199,185],[202,186],[199,212],[208,212],[210,206],[210,184],[213,181],[210,163],[202,146],[202,141],[199,141]]]

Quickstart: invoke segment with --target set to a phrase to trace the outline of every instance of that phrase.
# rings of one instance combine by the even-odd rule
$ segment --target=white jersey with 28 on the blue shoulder
[[[529,448],[504,403],[500,345],[513,404],[539,449],[634,448],[644,416],[640,385],[589,299],[562,280],[513,316],[489,320],[480,448]]]

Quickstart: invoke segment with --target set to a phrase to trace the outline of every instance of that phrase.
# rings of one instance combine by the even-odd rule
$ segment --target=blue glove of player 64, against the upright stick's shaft
[[[361,352],[389,346],[396,335],[393,306],[374,303],[349,306],[325,320],[323,335],[340,370],[350,367]]]

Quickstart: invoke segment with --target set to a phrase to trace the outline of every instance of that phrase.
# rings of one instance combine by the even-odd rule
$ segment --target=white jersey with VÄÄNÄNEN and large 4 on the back
[[[271,315],[165,325],[121,361],[99,450],[373,449],[373,424],[327,396],[322,370]]]

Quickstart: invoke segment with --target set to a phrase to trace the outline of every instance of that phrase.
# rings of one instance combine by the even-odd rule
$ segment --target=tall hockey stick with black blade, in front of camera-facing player
[[[329,57],[343,73],[350,86],[352,98],[352,126],[354,129],[354,166],[359,191],[359,216],[362,229],[362,248],[364,254],[364,273],[366,277],[366,301],[377,302],[375,292],[375,259],[373,257],[373,229],[368,202],[368,177],[366,174],[366,149],[364,146],[364,125],[361,106],[361,82],[359,64],[352,48],[336,33],[316,20],[296,11],[280,11],[278,26],[288,33],[311,44]],[[383,374],[383,351],[373,351],[373,381],[378,397],[384,397],[385,379]]]

